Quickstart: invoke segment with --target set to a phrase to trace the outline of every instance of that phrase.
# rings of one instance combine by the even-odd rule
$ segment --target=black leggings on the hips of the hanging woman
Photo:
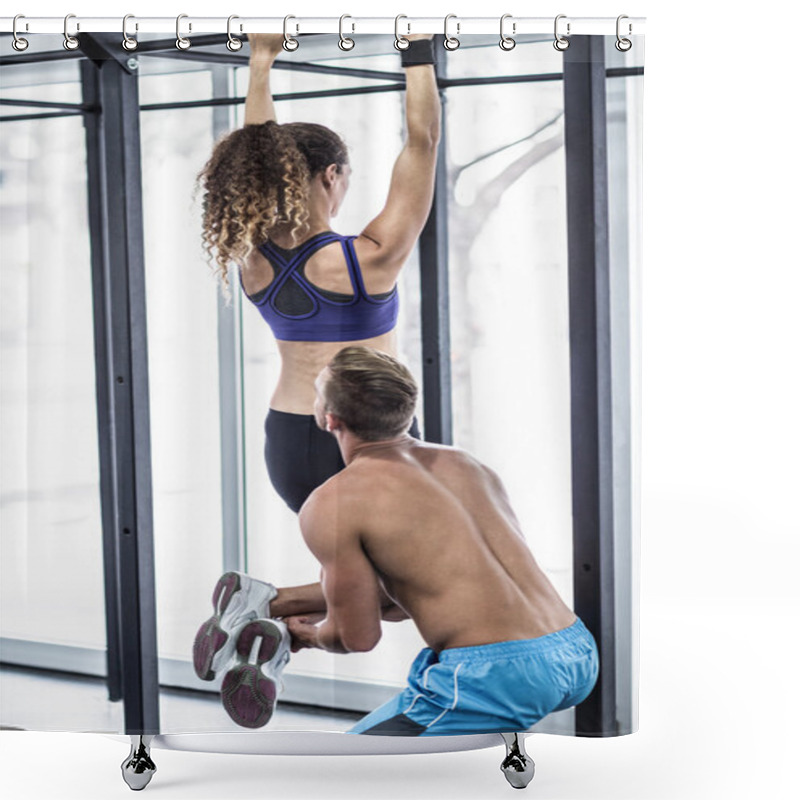
[[[317,426],[313,414],[289,414],[271,408],[264,424],[264,459],[275,491],[295,513],[311,492],[344,469],[339,444]],[[408,431],[419,439],[417,420]]]

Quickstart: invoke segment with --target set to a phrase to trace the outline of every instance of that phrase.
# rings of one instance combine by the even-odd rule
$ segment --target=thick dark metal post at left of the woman
[[[103,538],[116,606],[125,733],[159,732],[138,62],[115,34],[81,34],[87,117]],[[113,578],[112,578],[113,576]],[[112,626],[113,627],[113,626]],[[112,642],[109,642],[112,646]]]

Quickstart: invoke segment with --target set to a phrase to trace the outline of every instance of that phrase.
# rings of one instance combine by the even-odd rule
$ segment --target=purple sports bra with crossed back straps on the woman
[[[259,245],[259,251],[272,264],[275,278],[266,289],[247,297],[261,312],[276,339],[353,342],[380,336],[395,327],[399,307],[397,287],[381,295],[367,294],[353,247],[355,238],[325,231],[291,250],[272,242]],[[341,242],[352,295],[321,289],[305,277],[308,259],[331,242]]]

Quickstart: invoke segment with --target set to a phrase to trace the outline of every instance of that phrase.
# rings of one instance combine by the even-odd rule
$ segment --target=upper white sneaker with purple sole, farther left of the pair
[[[194,637],[194,671],[204,681],[213,681],[232,663],[236,638],[255,619],[269,616],[269,603],[278,590],[241,572],[226,572],[214,587],[214,614]]]

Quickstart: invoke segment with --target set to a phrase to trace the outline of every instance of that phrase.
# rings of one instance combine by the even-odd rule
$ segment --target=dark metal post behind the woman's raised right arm
[[[437,36],[436,39],[441,37]],[[439,41],[436,49],[440,53]],[[445,77],[445,65],[435,65],[436,77]],[[422,402],[425,439],[453,443],[453,409],[450,369],[450,290],[447,274],[447,128],[440,90],[442,132],[436,160],[436,185],[431,213],[419,238],[419,268],[422,316]]]

